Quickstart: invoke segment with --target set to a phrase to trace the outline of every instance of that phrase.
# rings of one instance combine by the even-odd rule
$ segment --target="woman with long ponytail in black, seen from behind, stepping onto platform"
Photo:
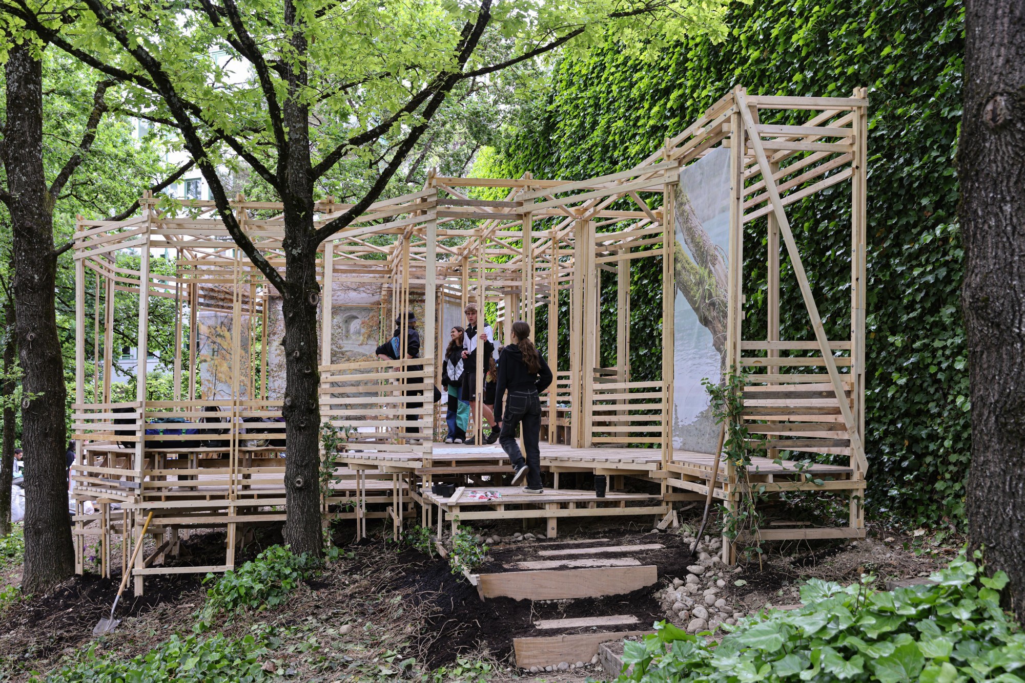
[[[495,415],[502,416],[498,442],[512,461],[512,485],[527,475],[524,493],[543,494],[541,484],[541,400],[538,394],[551,384],[551,371],[534,343],[530,341],[530,326],[523,321],[512,324],[512,343],[502,349],[495,380]],[[508,391],[505,412],[502,397]],[[523,424],[523,445],[527,459],[516,441],[517,425]]]

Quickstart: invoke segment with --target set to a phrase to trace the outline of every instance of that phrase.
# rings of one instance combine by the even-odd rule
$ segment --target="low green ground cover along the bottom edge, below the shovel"
[[[261,634],[260,634],[261,635]],[[171,636],[146,654],[124,659],[118,653],[99,656],[93,643],[77,663],[50,674],[33,677],[33,683],[207,683],[238,681],[257,683],[274,678],[260,659],[266,653],[262,637],[249,634],[227,638],[220,634],[201,638],[195,634]]]

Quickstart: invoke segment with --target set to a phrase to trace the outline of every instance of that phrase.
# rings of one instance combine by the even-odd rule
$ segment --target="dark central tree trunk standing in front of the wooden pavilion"
[[[285,0],[285,22],[301,26],[291,0]],[[291,37],[297,55],[305,55],[304,34]],[[303,99],[306,84],[304,59],[289,68],[289,92],[283,109],[288,131],[284,202],[285,281],[282,313],[285,316],[286,424],[285,500],[288,521],[285,542],[293,553],[320,555],[320,349],[317,307],[317,247],[314,232],[314,183],[310,161],[310,110]]]

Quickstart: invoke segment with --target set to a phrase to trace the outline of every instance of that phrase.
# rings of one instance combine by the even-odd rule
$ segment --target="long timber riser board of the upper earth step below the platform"
[[[632,593],[658,581],[658,567],[594,567],[587,569],[482,573],[481,595],[514,600],[600,598]]]

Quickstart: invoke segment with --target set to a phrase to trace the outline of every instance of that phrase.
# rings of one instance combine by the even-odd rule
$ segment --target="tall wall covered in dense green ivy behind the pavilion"
[[[658,148],[734,85],[834,96],[867,85],[869,509],[913,524],[959,523],[970,453],[954,173],[961,2],[754,0],[735,5],[729,23],[725,42],[685,39],[653,63],[616,50],[564,61],[547,101],[479,170],[572,179],[611,173]],[[836,296],[849,302],[849,191],[806,200],[788,214],[820,307],[828,310]],[[745,324],[764,329],[765,248],[748,232],[745,253],[757,251],[760,260],[748,264]],[[657,260],[633,269],[639,380],[658,373]],[[605,299],[603,319],[614,335],[615,297]],[[783,337],[813,338],[799,296],[787,303]],[[838,338],[850,325],[826,324]]]

